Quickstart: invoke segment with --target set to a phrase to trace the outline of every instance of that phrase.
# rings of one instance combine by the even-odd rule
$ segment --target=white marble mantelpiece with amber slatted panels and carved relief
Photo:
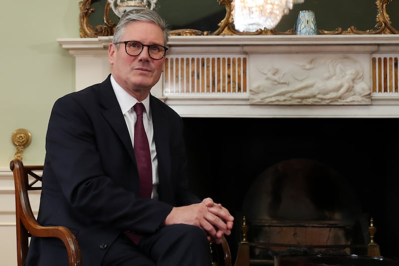
[[[57,39],[75,56],[76,90],[108,75],[111,40]],[[399,117],[399,35],[171,36],[169,47],[152,93],[183,117]]]

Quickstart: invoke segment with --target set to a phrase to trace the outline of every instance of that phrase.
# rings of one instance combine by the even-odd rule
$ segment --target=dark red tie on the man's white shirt
[[[147,134],[143,124],[144,105],[138,102],[133,108],[137,115],[136,124],[134,125],[134,155],[136,157],[140,177],[139,197],[151,198],[153,179],[150,145],[148,144]]]

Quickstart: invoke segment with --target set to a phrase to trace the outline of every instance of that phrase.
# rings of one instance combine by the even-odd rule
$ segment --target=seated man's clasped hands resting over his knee
[[[201,203],[174,207],[165,219],[165,225],[188,224],[200,227],[208,241],[220,244],[223,235],[230,235],[234,218],[221,204],[205,198]]]

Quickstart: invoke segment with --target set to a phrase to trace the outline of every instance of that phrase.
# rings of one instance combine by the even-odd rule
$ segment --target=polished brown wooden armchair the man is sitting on
[[[14,176],[15,215],[16,215],[16,249],[18,266],[25,262],[29,238],[31,236],[60,239],[67,250],[70,266],[81,266],[81,255],[78,241],[74,234],[62,226],[40,226],[30,207],[28,191],[41,190],[41,173],[43,166],[24,166],[22,161],[14,159],[9,168]],[[211,244],[212,266],[231,266],[231,253],[226,239],[220,245]]]

